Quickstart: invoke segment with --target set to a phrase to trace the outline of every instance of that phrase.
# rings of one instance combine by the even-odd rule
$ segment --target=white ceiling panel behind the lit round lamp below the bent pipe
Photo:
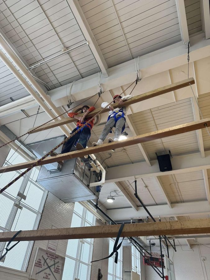
[[[109,203],[107,202],[107,197],[110,195],[110,192],[116,191],[119,195],[116,195],[115,192],[111,193],[114,197],[114,202]],[[128,201],[124,198],[118,187],[113,183],[103,184],[100,195],[99,195],[99,206],[103,204],[106,209],[116,209],[116,208],[130,208],[131,205]]]

